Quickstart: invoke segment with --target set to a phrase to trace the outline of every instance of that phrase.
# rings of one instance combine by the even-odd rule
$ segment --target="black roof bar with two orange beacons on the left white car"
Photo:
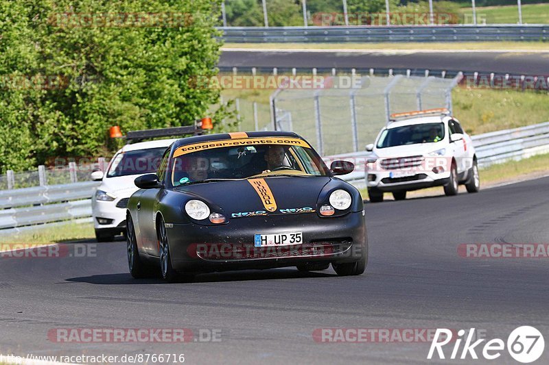
[[[213,125],[211,124],[210,118],[202,118],[201,121],[195,121],[194,125],[185,125],[183,127],[143,129],[140,131],[128,131],[126,133],[126,136],[123,136],[120,133],[120,128],[115,126],[110,128],[110,136],[111,138],[126,138],[128,143],[135,143],[150,138],[186,136],[188,134],[191,134],[193,136],[200,136],[200,134],[202,134],[205,129],[211,129],[212,127]]]

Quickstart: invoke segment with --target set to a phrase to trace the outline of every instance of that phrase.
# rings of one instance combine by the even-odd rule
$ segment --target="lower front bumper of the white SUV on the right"
[[[395,171],[371,171],[366,173],[366,186],[369,189],[382,192],[399,190],[418,190],[432,186],[445,186],[449,183],[450,172],[434,173],[432,171],[418,171],[416,174],[406,177],[392,177]],[[369,181],[372,179],[373,181]]]

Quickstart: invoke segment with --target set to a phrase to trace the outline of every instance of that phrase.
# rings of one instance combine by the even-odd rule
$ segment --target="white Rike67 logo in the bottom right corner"
[[[457,338],[452,338],[454,332],[450,329],[436,329],[429,354],[427,355],[428,360],[433,359],[435,351],[439,359],[445,359],[443,347],[450,342],[454,344],[452,355],[449,357],[452,360],[465,360],[468,358],[476,360],[478,359],[477,351],[482,353],[482,357],[486,360],[495,360],[502,355],[502,351],[505,349],[504,340],[494,338],[484,343],[484,346],[480,346],[486,339],[482,338],[472,342],[474,332],[474,328],[471,328],[468,333],[466,333],[465,329],[460,329],[457,333]],[[465,340],[465,344],[463,344],[463,349],[461,349],[461,353],[459,354],[463,340]],[[507,338],[506,345],[507,351],[509,351],[509,355],[513,359],[517,360],[517,362],[528,364],[539,359],[541,354],[544,353],[545,341],[541,332],[534,327],[522,326],[515,328],[511,332]]]

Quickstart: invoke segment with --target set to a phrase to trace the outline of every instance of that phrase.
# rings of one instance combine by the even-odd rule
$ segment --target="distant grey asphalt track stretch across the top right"
[[[375,46],[373,46],[375,47]],[[547,53],[528,52],[333,52],[227,51],[219,66],[299,68],[410,68],[451,71],[546,75]]]

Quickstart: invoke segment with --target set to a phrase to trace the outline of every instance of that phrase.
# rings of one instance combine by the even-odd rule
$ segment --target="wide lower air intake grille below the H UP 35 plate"
[[[283,257],[325,257],[344,253],[352,242],[314,242],[310,244],[295,244],[281,247],[254,247],[251,244],[229,245],[208,244],[207,247],[197,245],[196,257],[208,261],[240,261],[258,259],[276,259]]]

